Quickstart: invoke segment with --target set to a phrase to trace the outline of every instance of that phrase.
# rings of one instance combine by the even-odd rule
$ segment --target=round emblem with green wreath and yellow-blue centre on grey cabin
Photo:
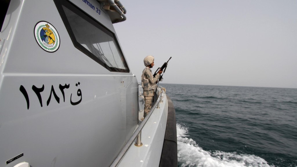
[[[34,35],[38,45],[47,52],[55,52],[60,46],[58,31],[46,21],[40,21],[35,25]]]

